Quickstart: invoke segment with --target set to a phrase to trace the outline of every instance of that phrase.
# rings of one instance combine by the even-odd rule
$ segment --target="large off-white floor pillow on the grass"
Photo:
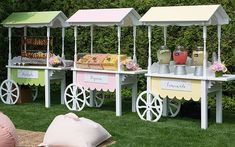
[[[110,137],[100,124],[68,113],[55,117],[39,146],[95,147]]]

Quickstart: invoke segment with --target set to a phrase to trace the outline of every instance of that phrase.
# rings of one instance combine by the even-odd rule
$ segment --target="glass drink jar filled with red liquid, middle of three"
[[[178,46],[173,52],[175,64],[184,65],[187,61],[188,51],[183,46]]]

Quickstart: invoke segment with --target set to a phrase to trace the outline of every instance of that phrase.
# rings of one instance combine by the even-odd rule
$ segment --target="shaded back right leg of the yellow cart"
[[[222,84],[220,83],[220,88],[216,92],[216,123],[222,123],[223,121],[223,107],[222,107]]]

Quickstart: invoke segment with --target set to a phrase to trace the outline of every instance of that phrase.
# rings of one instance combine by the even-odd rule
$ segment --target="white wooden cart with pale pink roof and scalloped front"
[[[101,106],[102,97],[97,97],[94,91],[116,90],[116,116],[122,115],[121,87],[132,88],[132,111],[135,112],[137,98],[137,75],[146,73],[147,70],[122,71],[121,70],[121,27],[133,26],[133,59],[136,59],[136,26],[140,25],[140,15],[133,8],[119,9],[87,9],[79,10],[68,19],[68,23],[74,26],[75,54],[73,83],[65,90],[65,104],[70,110],[80,111],[87,104],[89,106]],[[117,26],[118,34],[118,70],[93,70],[76,67],[77,61],[77,27],[90,26],[91,30],[91,54],[93,54],[93,27],[94,26]],[[82,37],[82,36],[81,36]],[[86,94],[90,90],[90,93]]]

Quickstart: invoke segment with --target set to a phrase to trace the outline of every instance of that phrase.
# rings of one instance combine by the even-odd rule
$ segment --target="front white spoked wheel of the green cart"
[[[13,80],[5,80],[0,86],[0,97],[5,104],[15,104],[20,96],[18,85]]]

